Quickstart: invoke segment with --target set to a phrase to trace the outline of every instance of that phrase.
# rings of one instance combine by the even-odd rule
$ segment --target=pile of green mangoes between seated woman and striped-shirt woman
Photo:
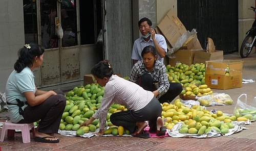
[[[80,124],[87,121],[99,109],[101,99],[104,95],[104,87],[98,84],[74,87],[66,93],[66,107],[62,113],[59,129],[76,131],[77,135],[95,132],[99,128],[99,120],[95,119],[92,124],[80,127]],[[113,104],[106,116],[106,125],[113,126],[110,115],[116,112],[125,111],[126,107]]]

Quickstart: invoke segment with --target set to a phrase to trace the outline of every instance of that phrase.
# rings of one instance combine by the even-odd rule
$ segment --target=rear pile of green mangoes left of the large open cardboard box
[[[180,83],[183,87],[189,84],[205,84],[205,64],[196,63],[190,66],[184,63],[177,63],[175,66],[166,66],[168,81]]]

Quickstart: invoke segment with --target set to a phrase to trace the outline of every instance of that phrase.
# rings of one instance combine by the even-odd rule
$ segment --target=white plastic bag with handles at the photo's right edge
[[[256,121],[256,96],[252,100],[252,105],[250,106],[247,103],[247,94],[242,94],[238,97],[238,102],[234,108],[234,115],[237,117],[246,117],[251,121]]]

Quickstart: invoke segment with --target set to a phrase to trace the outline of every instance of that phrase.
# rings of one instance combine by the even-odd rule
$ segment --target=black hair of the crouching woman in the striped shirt
[[[108,60],[104,60],[94,65],[91,73],[99,79],[110,78],[113,75],[113,68]]]

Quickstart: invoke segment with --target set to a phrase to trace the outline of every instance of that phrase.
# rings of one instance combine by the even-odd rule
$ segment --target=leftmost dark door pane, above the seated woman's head
[[[37,43],[36,2],[23,0],[25,43]]]

